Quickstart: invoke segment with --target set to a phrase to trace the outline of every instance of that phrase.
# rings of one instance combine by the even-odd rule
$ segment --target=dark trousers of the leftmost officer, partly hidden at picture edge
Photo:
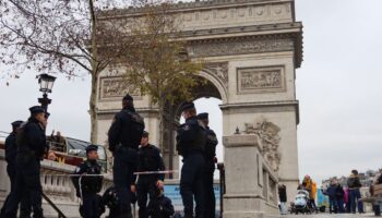
[[[7,205],[10,202],[11,193],[14,192],[15,179],[16,179],[16,166],[15,166],[15,164],[13,164],[13,165],[8,164],[7,173],[8,173],[8,177],[10,178],[10,182],[11,182],[11,192],[8,194],[5,202],[2,205],[2,208],[0,211],[1,218],[5,216]],[[31,217],[31,205],[28,203],[28,197],[26,195],[24,195],[21,199],[21,203],[20,203],[20,218],[28,218],[28,217]]]

